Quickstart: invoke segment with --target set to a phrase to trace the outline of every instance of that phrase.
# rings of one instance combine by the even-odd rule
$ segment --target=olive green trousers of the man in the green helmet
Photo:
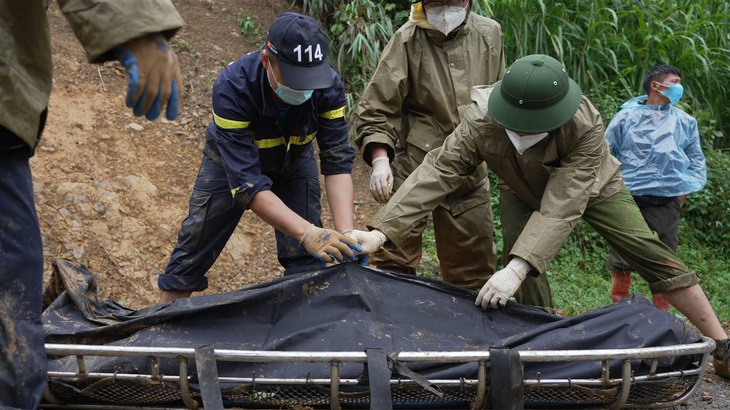
[[[533,210],[512,191],[501,192],[500,207],[504,235],[502,261],[506,262]],[[587,208],[583,220],[649,283],[652,293],[665,293],[700,283],[699,277],[649,228],[626,187]],[[519,303],[526,305],[554,307],[545,274],[528,275],[515,297]]]

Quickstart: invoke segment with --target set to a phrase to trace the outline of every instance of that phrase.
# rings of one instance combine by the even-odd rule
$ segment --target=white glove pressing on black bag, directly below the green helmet
[[[507,267],[492,275],[482,286],[475,304],[481,306],[482,309],[506,305],[520,288],[528,272],[530,272],[530,264],[522,258],[512,258]]]

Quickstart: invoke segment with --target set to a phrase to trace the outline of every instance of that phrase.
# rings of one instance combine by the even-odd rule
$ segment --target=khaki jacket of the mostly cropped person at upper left
[[[170,0],[58,0],[89,62],[145,34],[168,38],[183,25]],[[0,125],[35,148],[51,93],[50,0],[0,1]]]

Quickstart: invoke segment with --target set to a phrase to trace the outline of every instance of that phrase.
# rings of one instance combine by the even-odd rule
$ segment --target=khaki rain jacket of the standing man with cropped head
[[[501,30],[496,21],[473,13],[449,37],[409,21],[386,45],[355,111],[355,144],[368,165],[368,144],[389,147],[396,189],[459,124],[471,103],[471,88],[504,75]],[[486,175],[486,166],[479,167],[453,197],[473,191]],[[442,205],[458,214],[459,208],[468,210],[489,198],[475,200]]]

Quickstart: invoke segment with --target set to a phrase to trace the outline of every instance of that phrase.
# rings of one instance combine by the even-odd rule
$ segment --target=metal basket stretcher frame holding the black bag
[[[543,379],[524,378],[521,388],[524,391],[525,408],[555,408],[562,406],[588,409],[658,409],[680,405],[691,397],[703,380],[711,352],[715,342],[703,337],[697,343],[681,344],[668,347],[646,347],[632,349],[600,349],[600,350],[533,350],[519,351],[519,360],[524,368],[531,362],[577,362],[597,361],[601,363],[602,374],[588,379]],[[254,351],[213,349],[210,346],[195,348],[164,347],[120,347],[104,345],[46,344],[46,353],[51,358],[75,356],[78,371],[49,371],[49,388],[44,395],[42,409],[201,409],[227,408],[291,408],[288,406],[305,406],[295,408],[351,408],[367,404],[367,392],[353,396],[348,387],[358,386],[360,380],[340,377],[340,366],[343,363],[367,363],[365,352],[294,352],[294,351]],[[136,357],[148,358],[150,368],[147,372],[130,373],[117,371],[114,373],[94,373],[86,370],[86,361],[92,356]],[[693,365],[688,370],[658,372],[657,365],[662,358],[692,356]],[[398,361],[405,365],[413,363],[477,363],[476,379],[428,380],[442,391],[462,392],[467,399],[439,402],[439,397],[426,392],[427,397],[434,400],[423,402],[423,408],[490,408],[489,403],[489,351],[458,352],[399,352]],[[160,360],[177,360],[179,373],[162,374]],[[195,361],[196,372],[190,375],[190,361]],[[648,374],[636,375],[632,361],[641,360],[650,363]],[[219,362],[280,362],[280,363],[319,363],[326,366],[329,378],[263,378],[256,375],[241,377],[218,377]],[[611,374],[611,363],[621,363],[620,374]],[[615,367],[615,366],[614,366]],[[615,373],[615,372],[614,372]],[[423,387],[412,379],[392,378],[393,408],[402,403],[398,392],[420,392]],[[83,392],[88,388],[74,386],[96,385],[104,388],[127,388],[125,386],[147,386],[152,391],[176,391],[178,400],[169,403],[120,403],[115,399],[100,399],[103,395],[92,395],[88,400]],[[237,386],[233,389],[224,386]],[[667,387],[668,386],[668,387]],[[157,390],[155,390],[157,389]],[[314,391],[318,402],[287,403],[281,396],[285,391]],[[78,391],[77,391],[78,390]],[[99,393],[101,390],[97,390]],[[229,394],[230,392],[244,392]],[[71,394],[69,394],[71,392]],[[229,393],[227,393],[229,392]],[[588,400],[580,399],[576,393],[598,392],[597,396],[588,394]],[[648,392],[648,393],[647,393]],[[658,392],[658,393],[657,393]],[[74,396],[78,393],[80,396]],[[398,393],[398,394],[397,394]],[[115,394],[115,393],[107,393]],[[117,393],[118,394],[118,393]],[[309,394],[309,393],[307,393]],[[278,396],[277,396],[278,395]],[[351,402],[352,397],[359,401]],[[238,397],[238,398],[236,398]],[[240,399],[244,397],[245,400]],[[554,401],[544,397],[556,397]],[[571,397],[578,397],[572,400]],[[596,397],[598,399],[594,400]],[[283,400],[283,401],[282,401]],[[363,401],[364,400],[364,401]],[[571,401],[572,400],[572,401]],[[585,402],[582,402],[585,401]],[[310,406],[310,407],[306,407]],[[414,408],[413,402],[408,404]],[[453,406],[453,407],[452,407]],[[544,407],[542,407],[544,406]]]

